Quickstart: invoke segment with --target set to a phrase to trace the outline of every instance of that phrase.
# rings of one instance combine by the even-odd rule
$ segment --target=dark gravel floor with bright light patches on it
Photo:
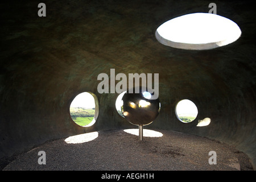
[[[3,170],[253,170],[246,154],[216,140],[144,129],[140,142],[133,132],[138,129],[49,141],[18,155]],[[39,151],[46,152],[46,164],[39,165]],[[216,152],[217,164],[209,164],[210,151]]]

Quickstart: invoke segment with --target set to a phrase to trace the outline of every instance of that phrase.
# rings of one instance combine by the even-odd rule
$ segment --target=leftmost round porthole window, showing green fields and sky
[[[78,94],[69,107],[71,118],[77,125],[92,126],[98,117],[98,99],[90,92]]]

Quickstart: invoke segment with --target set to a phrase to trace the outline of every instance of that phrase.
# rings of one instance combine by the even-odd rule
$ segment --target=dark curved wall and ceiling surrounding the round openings
[[[156,28],[189,13],[208,13],[208,1],[1,2],[0,159],[47,140],[134,127],[100,94],[97,76],[159,73],[161,110],[148,129],[195,134],[232,144],[255,169],[255,10],[246,1],[216,1],[217,14],[240,26],[228,46],[187,51],[160,44]],[[117,83],[116,81],[115,83]],[[90,127],[72,121],[69,105],[81,92],[98,98]],[[193,101],[199,113],[180,122],[175,105]],[[209,126],[197,127],[198,119]]]

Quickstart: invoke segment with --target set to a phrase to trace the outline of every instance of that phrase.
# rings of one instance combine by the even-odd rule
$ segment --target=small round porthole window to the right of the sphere
[[[177,103],[175,114],[179,121],[189,123],[196,119],[198,110],[192,101],[185,99]]]

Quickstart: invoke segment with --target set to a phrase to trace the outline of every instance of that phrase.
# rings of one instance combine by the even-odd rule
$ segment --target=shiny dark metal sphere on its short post
[[[159,98],[150,99],[152,91],[144,91],[146,89],[141,87],[137,89],[139,92],[135,92],[136,89],[133,88],[133,92],[129,90],[123,95],[121,110],[127,121],[139,126],[139,140],[142,140],[143,125],[149,125],[158,116],[160,101]]]

